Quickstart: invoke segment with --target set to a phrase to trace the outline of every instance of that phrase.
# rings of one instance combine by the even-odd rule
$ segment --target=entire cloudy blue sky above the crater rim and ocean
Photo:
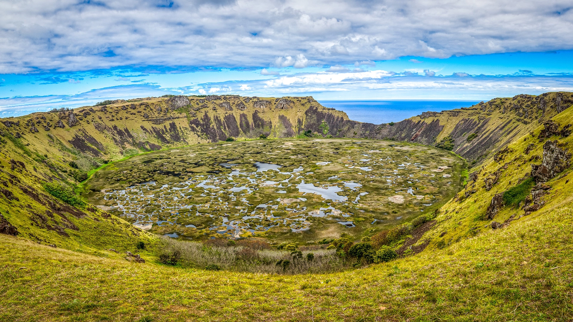
[[[567,1],[0,3],[0,112],[233,93],[488,100],[573,91]]]

